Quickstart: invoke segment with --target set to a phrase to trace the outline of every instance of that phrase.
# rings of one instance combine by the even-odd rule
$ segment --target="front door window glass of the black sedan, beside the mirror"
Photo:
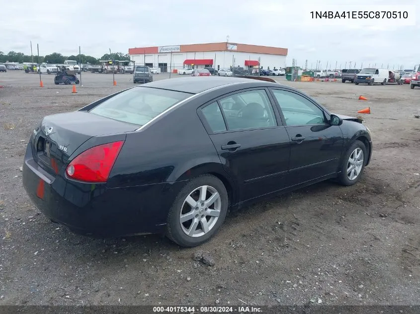
[[[274,89],[287,126],[325,124],[324,112],[311,101],[296,93]]]

